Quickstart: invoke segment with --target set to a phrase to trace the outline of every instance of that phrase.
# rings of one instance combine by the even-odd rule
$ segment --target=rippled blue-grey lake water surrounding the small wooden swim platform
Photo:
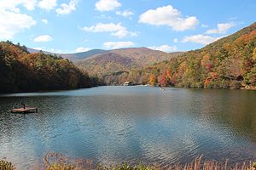
[[[11,114],[20,103],[38,113]],[[47,151],[94,162],[256,159],[256,92],[100,87],[0,96],[0,159],[32,168]]]

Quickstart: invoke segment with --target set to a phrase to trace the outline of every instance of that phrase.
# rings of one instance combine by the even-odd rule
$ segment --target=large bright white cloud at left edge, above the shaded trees
[[[16,33],[34,26],[36,21],[27,14],[0,10],[0,39],[12,39]]]

